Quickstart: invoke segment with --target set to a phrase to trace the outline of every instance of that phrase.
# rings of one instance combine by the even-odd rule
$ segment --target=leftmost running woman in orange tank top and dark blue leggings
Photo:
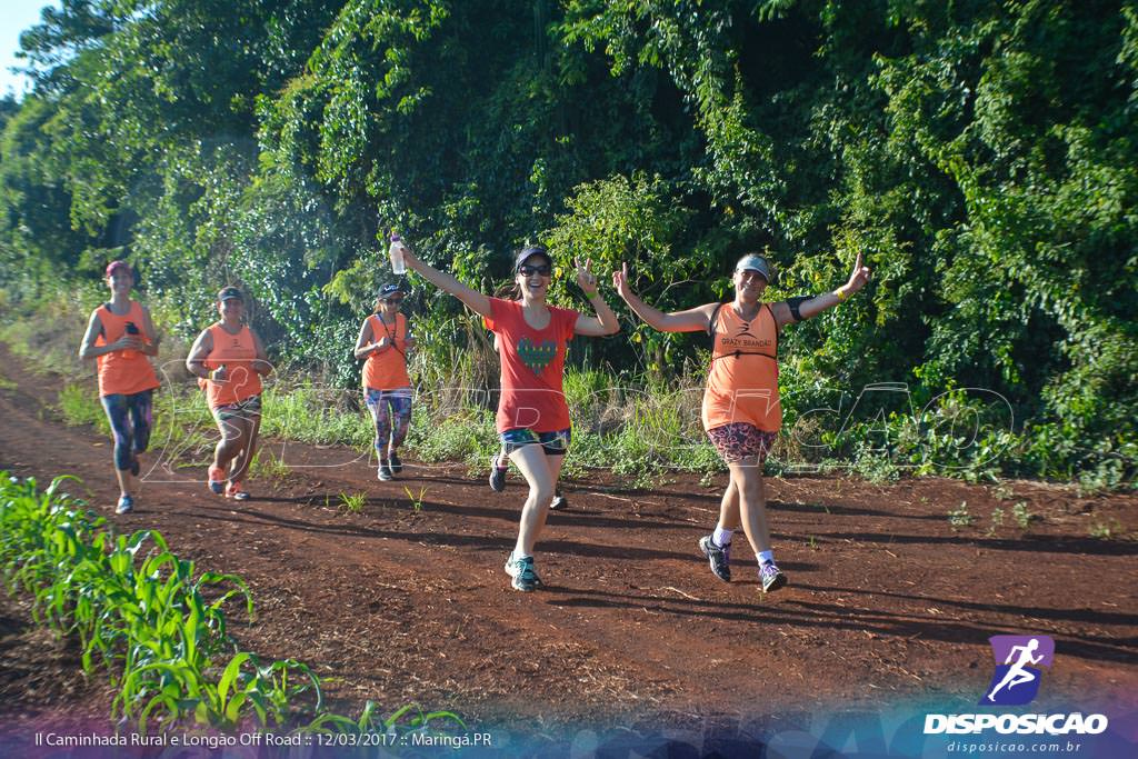
[[[150,442],[154,389],[158,377],[148,356],[158,355],[158,335],[150,312],[132,300],[134,270],[125,261],[107,266],[110,300],[91,312],[79,357],[94,358],[99,368],[99,399],[115,438],[118,503],[115,513],[134,509],[139,454]]]

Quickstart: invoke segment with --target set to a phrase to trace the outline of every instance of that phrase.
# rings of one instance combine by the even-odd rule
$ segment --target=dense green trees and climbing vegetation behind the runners
[[[126,256],[167,331],[239,282],[281,360],[348,386],[388,228],[487,289],[526,241],[627,259],[666,308],[725,297],[744,250],[776,297],[860,250],[871,287],[782,346],[791,421],[833,388],[905,382],[920,409],[980,387],[1026,471],[1133,477],[1133,0],[65,0],[22,44],[9,312],[89,307]],[[412,304],[424,381],[470,377],[477,324]],[[698,374],[700,339],[626,324],[576,364]]]

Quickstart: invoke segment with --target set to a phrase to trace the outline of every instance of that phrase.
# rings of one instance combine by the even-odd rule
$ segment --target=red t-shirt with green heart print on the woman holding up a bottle
[[[526,323],[520,302],[490,298],[490,315],[485,322],[498,337],[502,366],[498,432],[522,428],[535,432],[569,429],[569,406],[561,380],[566,347],[579,314],[570,308],[549,308],[550,323],[537,330]]]

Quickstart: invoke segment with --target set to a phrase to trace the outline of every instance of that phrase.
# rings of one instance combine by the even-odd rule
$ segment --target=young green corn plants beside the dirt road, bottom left
[[[347,719],[323,713],[319,678],[306,665],[262,663],[238,649],[223,607],[244,597],[253,618],[240,577],[198,574],[154,530],[113,537],[100,529],[105,520],[60,492],[69,478],[42,493],[34,479],[2,478],[5,585],[32,595],[38,624],[79,637],[85,673],[106,668],[119,688],[113,718],[134,721],[143,733],[187,721],[280,727],[302,711],[329,724]]]

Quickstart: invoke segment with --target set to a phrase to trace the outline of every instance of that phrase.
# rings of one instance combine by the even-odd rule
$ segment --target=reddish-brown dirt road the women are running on
[[[343,712],[366,699],[385,709],[414,701],[539,732],[933,695],[975,704],[991,676],[987,638],[1028,633],[1056,641],[1053,699],[1138,707],[1132,495],[1024,481],[768,479],[791,585],[762,596],[742,536],[729,585],[696,547],[725,476],[711,487],[676,476],[644,492],[597,473],[567,484],[571,509],[551,514],[538,546],[546,587],[522,594],[502,569],[523,493],[514,473],[503,494],[463,468],[411,462],[378,482],[351,451],[265,442],[291,471],[247,482],[251,501],[213,496],[204,472],[158,470],[135,512],[115,517],[109,442],[59,421],[53,381],[7,350],[0,366],[0,468],[44,482],[76,475],[89,488],[77,494],[117,529],[157,528],[199,569],[245,577],[257,620],[231,610],[242,646],[306,661]],[[426,488],[421,509],[404,486]],[[337,510],[340,493],[365,493],[362,513]],[[948,513],[964,502],[975,523],[954,528]],[[1019,503],[1041,519],[1022,529]],[[1003,526],[992,527],[995,509]],[[1092,538],[1096,525],[1131,537]],[[0,720],[105,719],[110,692],[75,675],[75,659],[30,627],[26,607],[3,601]]]

